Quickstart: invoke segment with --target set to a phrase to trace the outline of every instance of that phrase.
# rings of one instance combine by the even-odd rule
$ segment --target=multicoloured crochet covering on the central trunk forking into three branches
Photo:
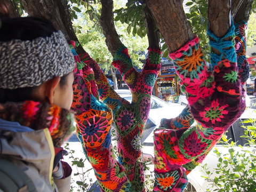
[[[148,119],[150,98],[159,70],[161,52],[148,49],[149,56],[141,73],[133,68],[125,46],[119,47],[113,65],[118,68],[132,92],[132,103],[121,98],[110,85],[97,63],[88,54],[81,60],[94,71],[101,100],[113,111],[117,131],[118,161],[125,168],[132,191],[145,191],[144,173],[141,162],[141,133]]]

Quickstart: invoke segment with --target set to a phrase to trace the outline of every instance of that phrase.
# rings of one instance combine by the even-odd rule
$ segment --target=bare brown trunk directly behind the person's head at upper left
[[[78,41],[74,33],[66,0],[21,0],[27,13],[34,17],[44,17],[61,30],[68,40]],[[81,45],[76,49],[77,53],[84,53]]]

